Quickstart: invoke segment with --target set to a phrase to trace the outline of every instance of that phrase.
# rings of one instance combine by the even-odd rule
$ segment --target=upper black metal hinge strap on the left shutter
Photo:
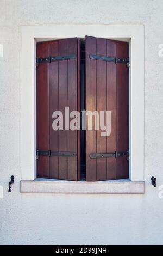
[[[68,59],[76,59],[76,54],[69,54],[64,56],[49,56],[45,58],[36,58],[36,66],[39,66],[40,63],[43,62],[58,62],[60,60],[68,60]]]

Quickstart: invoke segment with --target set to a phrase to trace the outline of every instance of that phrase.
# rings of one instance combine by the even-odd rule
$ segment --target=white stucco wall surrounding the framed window
[[[162,13],[161,0],[0,1],[0,244],[163,244]],[[46,24],[145,25],[145,194],[20,193],[21,25]]]

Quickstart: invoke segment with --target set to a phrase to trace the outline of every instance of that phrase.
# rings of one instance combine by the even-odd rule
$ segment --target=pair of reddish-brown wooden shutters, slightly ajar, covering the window
[[[101,136],[101,126],[68,130],[65,121],[54,130],[53,113],[65,107],[104,111],[105,118],[110,111],[110,135]],[[86,36],[37,43],[37,177],[129,177],[128,42]]]

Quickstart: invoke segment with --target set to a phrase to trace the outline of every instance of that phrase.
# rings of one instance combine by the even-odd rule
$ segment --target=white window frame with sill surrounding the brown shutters
[[[129,179],[84,182],[36,179],[36,41],[45,38],[129,38]],[[21,48],[21,192],[143,193],[144,180],[144,26],[31,25],[22,26]],[[74,186],[74,183],[76,184]],[[43,185],[42,185],[43,184]],[[45,185],[47,184],[47,185]],[[98,188],[96,188],[98,184]],[[100,185],[101,184],[101,185]],[[48,186],[48,189],[45,187]],[[49,186],[51,188],[49,188]],[[105,188],[100,188],[103,186]],[[120,186],[116,189],[116,187]],[[136,187],[135,187],[136,186]],[[35,189],[34,189],[35,187]],[[37,188],[36,188],[37,187]],[[42,189],[41,189],[42,187]],[[44,189],[43,189],[44,187]],[[57,188],[59,187],[59,188]],[[61,189],[62,187],[62,189]],[[68,187],[65,190],[64,187]],[[74,188],[75,187],[75,188]],[[79,188],[80,187],[80,188]],[[92,188],[93,187],[93,188]],[[110,187],[110,188],[109,188]],[[92,191],[93,189],[93,191]],[[82,192],[83,191],[83,192]],[[90,192],[89,192],[90,191]],[[100,192],[99,192],[100,191]]]

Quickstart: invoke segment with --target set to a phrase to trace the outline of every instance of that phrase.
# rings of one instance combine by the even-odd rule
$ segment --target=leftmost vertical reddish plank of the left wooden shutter
[[[37,44],[37,57],[49,56],[49,42]],[[49,63],[37,67],[37,149],[49,150]],[[37,160],[37,176],[49,176],[49,157]]]

